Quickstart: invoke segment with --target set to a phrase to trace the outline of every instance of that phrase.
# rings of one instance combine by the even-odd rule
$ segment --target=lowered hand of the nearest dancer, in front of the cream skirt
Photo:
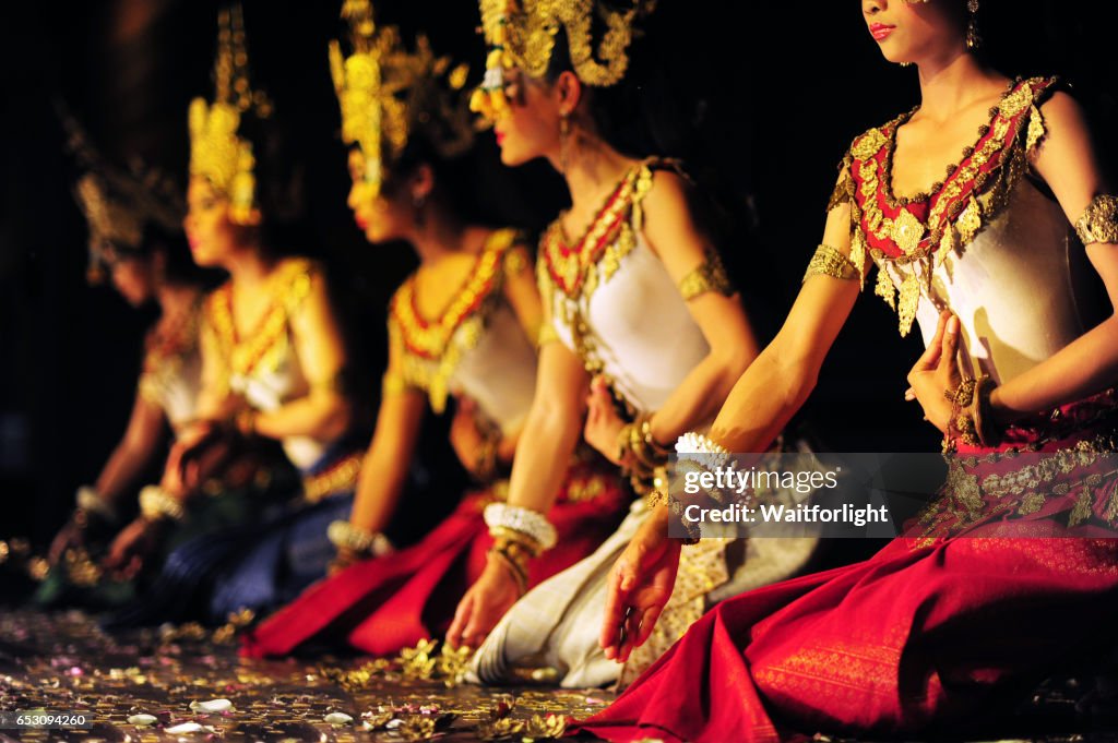
[[[606,613],[598,645],[606,657],[625,663],[644,645],[672,598],[680,566],[679,540],[667,536],[667,509],[642,524],[609,571]]]

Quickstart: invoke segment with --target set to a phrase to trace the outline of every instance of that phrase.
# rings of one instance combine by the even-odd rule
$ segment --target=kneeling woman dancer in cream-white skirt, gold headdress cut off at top
[[[622,98],[610,88],[628,67],[638,8],[504,1],[481,7],[494,50],[475,104],[495,118],[502,161],[547,158],[565,177],[572,202],[540,244],[540,383],[506,513],[528,518],[548,508],[558,464],[580,432],[629,475],[635,489],[651,493],[666,461],[663,442],[710,421],[735,374],[756,353],[752,332],[695,213],[694,189],[670,163],[623,154],[612,139],[620,122],[634,117],[618,108]],[[614,41],[601,45],[601,61],[589,54],[596,18]],[[686,578],[661,636],[622,671],[596,641],[605,579],[648,513],[643,502],[635,504],[594,555],[511,611],[515,592],[500,565],[491,565],[463,599],[448,634],[452,644],[476,646],[493,630],[473,675],[511,682],[519,667],[544,665],[568,686],[606,684],[619,674],[624,683],[710,602],[793,574],[815,546],[811,539],[711,540],[689,550]]]

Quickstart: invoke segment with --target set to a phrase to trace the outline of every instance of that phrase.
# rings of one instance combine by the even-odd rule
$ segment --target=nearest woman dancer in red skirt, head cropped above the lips
[[[862,2],[885,58],[919,67],[921,105],[854,140],[784,330],[710,438],[679,445],[767,446],[809,394],[872,260],[901,332],[916,318],[928,344],[910,399],[960,455],[940,497],[869,561],[723,602],[586,730],[910,735],[1005,711],[1051,669],[1109,647],[1118,541],[1095,537],[1112,536],[1118,513],[1101,459],[1116,444],[1118,321],[1080,325],[1070,264],[1083,248],[1069,238],[1074,226],[1114,303],[1118,199],[1054,79],[980,64],[977,6]],[[1038,454],[994,456],[1008,451]],[[664,606],[680,552],[667,521],[661,507],[613,571],[610,657],[643,642]]]

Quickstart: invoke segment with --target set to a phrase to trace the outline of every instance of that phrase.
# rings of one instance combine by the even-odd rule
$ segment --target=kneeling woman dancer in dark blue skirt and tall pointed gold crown
[[[203,311],[198,420],[171,453],[171,487],[152,490],[144,514],[181,518],[173,493],[196,485],[210,446],[230,435],[277,440],[303,476],[302,494],[280,509],[246,513],[250,523],[240,527],[183,544],[153,596],[115,623],[197,611],[217,621],[290,600],[325,573],[333,555],[326,525],[349,514],[360,468],[344,394],[347,352],[325,277],[305,258],[274,257],[264,241],[266,220],[277,219],[290,189],[257,187],[258,162],[281,171],[264,141],[274,134],[271,103],[248,85],[239,8],[222,11],[219,27],[217,99],[190,106],[184,226],[195,260],[224,268],[229,280]],[[246,137],[249,122],[259,142]]]

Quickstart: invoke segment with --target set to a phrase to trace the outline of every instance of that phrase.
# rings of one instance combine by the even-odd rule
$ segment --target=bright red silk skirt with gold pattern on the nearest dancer
[[[579,730],[697,743],[911,735],[988,720],[1052,671],[1108,654],[1116,419],[1106,393],[1015,427],[998,449],[959,451],[932,507],[873,558],[723,601]],[[1011,448],[1083,457],[1032,490],[976,489],[1021,470],[989,456]]]

